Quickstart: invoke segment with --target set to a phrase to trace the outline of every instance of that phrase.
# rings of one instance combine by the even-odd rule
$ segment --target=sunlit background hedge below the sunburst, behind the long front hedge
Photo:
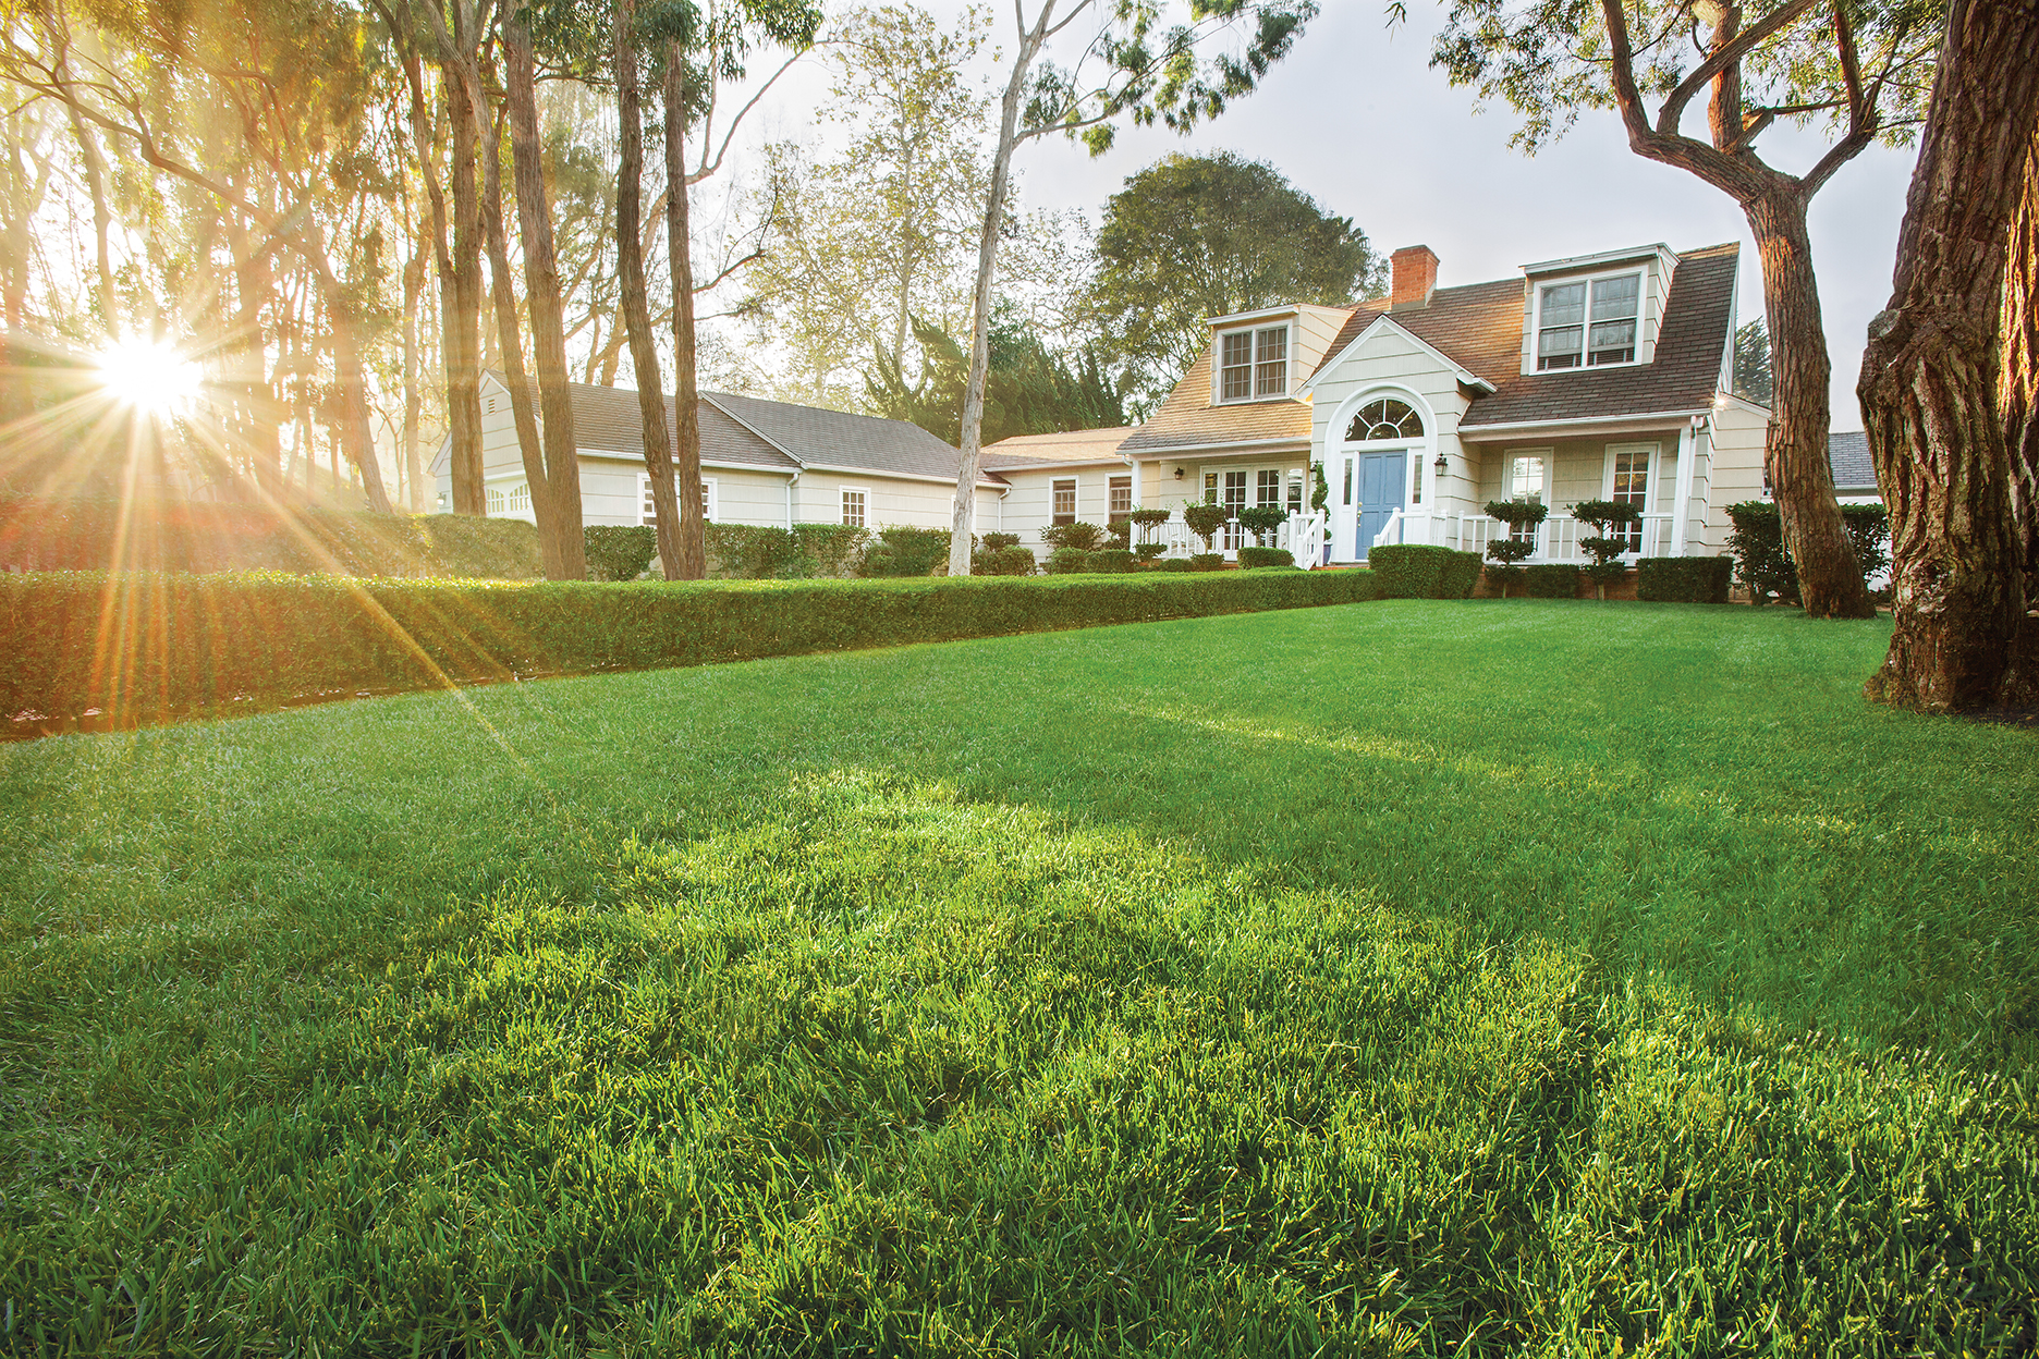
[[[540,575],[522,520],[279,509],[186,499],[0,495],[0,566],[16,570],[285,570],[351,577]]]

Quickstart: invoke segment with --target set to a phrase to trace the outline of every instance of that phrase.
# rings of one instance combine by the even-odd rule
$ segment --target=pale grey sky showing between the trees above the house
[[[922,0],[958,14],[960,0]],[[830,12],[844,6],[830,4]],[[1036,6],[1028,2],[1032,12]],[[1236,151],[1268,161],[1327,212],[1350,216],[1387,255],[1405,244],[1437,253],[1437,283],[1511,277],[1519,265],[1664,240],[1672,249],[1741,242],[1741,320],[1762,316],[1756,242],[1735,204],[1686,171],[1633,155],[1613,112],[1584,114],[1535,159],[1509,147],[1515,114],[1480,112],[1470,90],[1454,90],[1429,67],[1437,6],[1411,4],[1409,22],[1384,26],[1380,0],[1323,0],[1323,12],[1262,88],[1183,139],[1162,128],[1126,128],[1091,159],[1062,139],[1020,151],[1028,208],[1077,208],[1097,220],[1128,175],[1168,151]],[[1011,47],[1011,4],[993,6],[993,41]],[[826,92],[812,65],[789,73],[756,128],[769,137],[812,130]],[[989,67],[987,67],[989,73]],[[1688,128],[1703,126],[1703,112]],[[1780,169],[1805,171],[1819,157],[1811,132],[1772,128],[1760,151]],[[1819,271],[1833,359],[1833,428],[1860,430],[1855,373],[1864,330],[1890,297],[1896,232],[1913,151],[1870,149],[1813,200]]]

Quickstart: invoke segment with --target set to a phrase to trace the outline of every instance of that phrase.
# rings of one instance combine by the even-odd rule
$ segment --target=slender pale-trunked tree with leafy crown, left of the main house
[[[1113,124],[1162,122],[1187,132],[1250,94],[1289,53],[1315,0],[1189,0],[1187,22],[1162,24],[1158,0],[1013,0],[1015,45],[1007,57],[991,183],[977,232],[977,283],[971,291],[971,377],[962,393],[962,458],[948,536],[948,573],[971,575],[977,526],[977,471],[983,458],[985,377],[991,367],[991,306],[1013,153],[1050,132],[1079,137],[1093,155],[1111,147]],[[1068,67],[1044,57],[1079,22],[1087,35]],[[1250,29],[1240,51],[1205,55],[1213,37]]]

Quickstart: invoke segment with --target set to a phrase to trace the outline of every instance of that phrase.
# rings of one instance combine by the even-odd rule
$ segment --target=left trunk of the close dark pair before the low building
[[[673,434],[665,424],[659,344],[644,297],[644,114],[638,108],[636,0],[616,4],[616,102],[622,120],[622,165],[616,173],[616,285],[622,291],[630,367],[636,371],[638,414],[644,420],[644,471],[650,475],[659,568],[679,581],[679,499],[673,495]]]

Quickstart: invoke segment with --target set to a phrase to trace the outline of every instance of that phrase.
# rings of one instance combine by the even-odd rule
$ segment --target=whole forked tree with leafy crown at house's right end
[[[1827,463],[1833,365],[1819,316],[1807,206],[1878,141],[1902,143],[1925,112],[1941,22],[1935,0],[1454,0],[1433,65],[1521,116],[1535,153],[1584,110],[1613,108],[1629,149],[1721,189],[1743,210],[1764,269],[1772,407],[1764,463],[1815,617],[1868,617]],[[1711,90],[1707,137],[1684,128]],[[1656,116],[1645,96],[1660,96]],[[1778,122],[1831,143],[1805,173],[1768,165]]]

